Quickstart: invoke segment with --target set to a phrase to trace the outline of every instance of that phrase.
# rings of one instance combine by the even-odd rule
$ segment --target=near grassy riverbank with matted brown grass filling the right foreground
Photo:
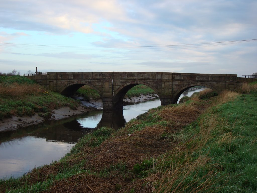
[[[1,180],[0,191],[256,192],[256,85],[101,128],[60,161]]]

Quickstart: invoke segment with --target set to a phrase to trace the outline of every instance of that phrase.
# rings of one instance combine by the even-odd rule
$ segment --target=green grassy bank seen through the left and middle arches
[[[80,89],[77,90],[78,94],[84,96],[85,100],[98,100],[100,99],[100,95],[97,93],[96,90],[92,89],[90,86],[84,85]],[[127,93],[125,98],[131,98],[132,96],[139,96],[140,94],[154,94],[154,91],[149,88],[148,86],[139,84],[132,87]]]

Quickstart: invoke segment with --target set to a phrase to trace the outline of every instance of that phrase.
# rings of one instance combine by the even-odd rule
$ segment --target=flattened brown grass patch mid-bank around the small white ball
[[[159,156],[170,149],[164,142],[165,139],[161,139],[165,129],[157,125],[145,127],[131,136],[111,137],[96,147],[92,154],[87,155],[87,165],[90,165],[91,169],[101,170],[110,165],[124,163],[132,169],[136,163]]]

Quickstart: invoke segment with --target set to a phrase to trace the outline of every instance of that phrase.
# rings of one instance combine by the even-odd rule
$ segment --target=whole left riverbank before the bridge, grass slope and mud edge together
[[[0,76],[0,132],[89,111],[23,76]]]

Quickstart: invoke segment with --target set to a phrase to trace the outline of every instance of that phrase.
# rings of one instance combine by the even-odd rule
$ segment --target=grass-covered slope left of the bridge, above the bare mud
[[[76,109],[78,103],[24,76],[0,76],[0,120],[35,113],[48,119],[52,109],[64,106]]]

